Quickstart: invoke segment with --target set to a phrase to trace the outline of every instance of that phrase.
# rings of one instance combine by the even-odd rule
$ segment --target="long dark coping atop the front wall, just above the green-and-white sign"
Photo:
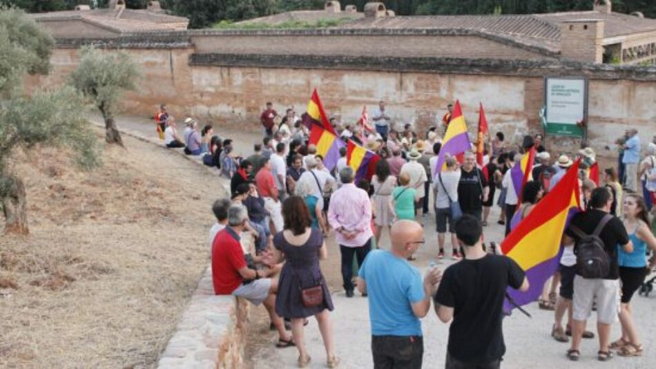
[[[610,66],[559,60],[463,59],[436,57],[352,57],[340,55],[242,55],[196,53],[191,66],[378,70],[403,73],[457,73],[518,77],[589,77],[656,81],[656,67]]]

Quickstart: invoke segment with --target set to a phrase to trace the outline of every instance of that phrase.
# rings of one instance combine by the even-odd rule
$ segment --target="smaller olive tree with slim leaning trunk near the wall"
[[[114,114],[126,91],[135,90],[139,77],[136,64],[124,51],[102,53],[93,46],[80,50],[80,63],[70,74],[70,84],[84,94],[102,113],[108,144],[123,146]]]

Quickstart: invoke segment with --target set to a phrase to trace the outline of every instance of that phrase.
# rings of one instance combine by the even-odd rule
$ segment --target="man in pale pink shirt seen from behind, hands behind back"
[[[362,265],[372,249],[372,202],[365,190],[354,185],[351,167],[342,169],[339,176],[343,185],[330,198],[328,222],[340,245],[346,296],[353,297],[353,256],[356,254],[358,265]]]

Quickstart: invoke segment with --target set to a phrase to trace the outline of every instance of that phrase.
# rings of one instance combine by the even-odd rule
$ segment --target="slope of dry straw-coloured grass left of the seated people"
[[[104,167],[19,155],[31,234],[0,238],[0,367],[151,368],[204,267],[214,176],[126,138]]]

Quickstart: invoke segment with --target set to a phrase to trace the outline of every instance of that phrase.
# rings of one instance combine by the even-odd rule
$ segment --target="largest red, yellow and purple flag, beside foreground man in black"
[[[581,211],[578,173],[579,161],[501,242],[503,254],[524,270],[530,284],[527,292],[508,287],[508,296],[519,306],[536,301],[558,268],[563,232],[572,216]],[[503,310],[509,313],[512,308],[506,299]]]

